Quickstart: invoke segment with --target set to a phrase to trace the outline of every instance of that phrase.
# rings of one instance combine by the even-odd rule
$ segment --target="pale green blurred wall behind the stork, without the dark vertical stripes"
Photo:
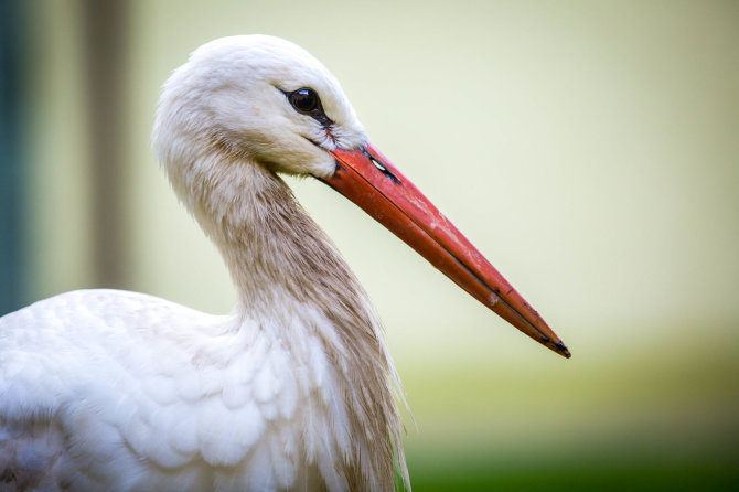
[[[43,297],[95,286],[78,19],[72,2],[38,4],[28,196],[33,286]],[[411,446],[460,428],[475,446],[497,431],[528,442],[518,430],[556,442],[582,421],[597,439],[615,439],[634,421],[649,428],[662,409],[705,399],[706,379],[692,375],[707,366],[729,379],[719,403],[695,410],[695,429],[719,436],[739,402],[737,365],[726,362],[739,340],[738,25],[739,3],[708,1],[133,2],[121,183],[132,287],[231,309],[228,276],[170,192],[149,132],[160,85],[196,46],[281,35],[338,76],[378,148],[574,353],[565,362],[532,343],[338,194],[291,180],[385,320],[427,432],[411,432]],[[443,406],[435,391],[450,388]],[[490,404],[511,392],[522,407]],[[624,402],[639,392],[656,392],[663,406],[629,414],[636,420],[613,409],[633,410]],[[560,430],[546,419],[529,425],[547,405]],[[624,420],[609,424],[603,411]],[[697,421],[689,411],[660,415]],[[520,425],[506,427],[506,416]]]

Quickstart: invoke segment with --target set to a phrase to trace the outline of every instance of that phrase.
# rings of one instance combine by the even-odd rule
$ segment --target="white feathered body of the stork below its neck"
[[[356,441],[339,396],[346,375],[326,352],[331,322],[298,304],[275,321],[116,290],[2,318],[0,463],[28,490],[363,483],[334,470]]]

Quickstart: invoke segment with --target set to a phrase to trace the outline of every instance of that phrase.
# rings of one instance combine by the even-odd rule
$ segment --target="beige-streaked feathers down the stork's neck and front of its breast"
[[[392,490],[394,459],[407,477],[392,391],[399,382],[366,292],[277,174],[244,160],[219,165],[231,172],[203,185],[193,211],[225,258],[237,311],[269,317],[279,327],[300,315],[283,312],[289,298],[288,304],[309,304],[328,320],[314,334],[343,389],[354,448],[344,463],[347,483],[351,490]]]

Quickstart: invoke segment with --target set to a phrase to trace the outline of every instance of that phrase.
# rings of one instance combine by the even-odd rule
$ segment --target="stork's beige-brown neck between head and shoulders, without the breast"
[[[326,278],[358,286],[277,174],[251,162],[229,165],[238,168],[223,184],[232,193],[227,201],[212,203],[201,223],[224,256],[242,308],[274,313],[286,297],[318,301],[320,290],[346,286],[319,281]]]

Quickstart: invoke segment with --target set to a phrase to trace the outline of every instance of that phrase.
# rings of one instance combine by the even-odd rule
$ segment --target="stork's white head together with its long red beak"
[[[523,297],[367,141],[336,79],[301,47],[265,35],[201,46],[164,84],[153,142],[175,191],[206,232],[208,223],[223,223],[246,185],[239,164],[312,175],[518,330],[569,357]]]

